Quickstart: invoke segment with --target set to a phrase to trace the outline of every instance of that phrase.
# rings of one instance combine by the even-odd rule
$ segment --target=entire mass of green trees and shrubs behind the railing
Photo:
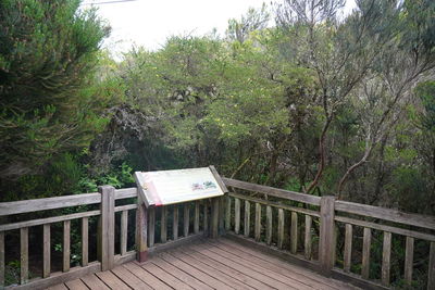
[[[344,3],[283,0],[229,20],[225,37],[171,37],[115,62],[100,49],[110,28],[78,0],[0,0],[0,201],[214,164],[435,215],[435,2],[357,0],[343,16]]]

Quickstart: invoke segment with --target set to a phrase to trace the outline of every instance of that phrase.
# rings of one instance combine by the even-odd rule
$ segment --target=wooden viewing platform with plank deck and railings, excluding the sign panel
[[[164,206],[110,186],[0,203],[0,289],[435,289],[435,217],[223,182]]]

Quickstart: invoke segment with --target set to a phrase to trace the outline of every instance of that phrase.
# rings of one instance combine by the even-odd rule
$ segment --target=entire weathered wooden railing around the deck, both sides
[[[391,242],[396,236],[406,239],[402,279],[410,285],[414,240],[424,240],[428,244],[427,289],[435,289],[434,217],[223,180],[233,189],[224,198],[150,209],[137,201],[136,188],[116,190],[109,186],[100,187],[97,193],[0,203],[0,217],[9,220],[0,225],[0,289],[5,282],[5,254],[13,248],[9,238],[15,230],[20,230],[20,281],[7,285],[7,289],[46,288],[135,259],[144,260],[142,253],[190,242],[203,235],[217,237],[224,229],[238,241],[364,288],[390,286]],[[27,218],[30,213],[63,209],[75,213]],[[91,218],[99,222],[94,260],[89,255]],[[71,267],[71,230],[76,219],[80,220],[82,260],[79,266]],[[59,223],[63,228],[62,261],[58,263],[62,272],[53,273],[51,263],[59,261],[51,256],[51,229]],[[38,239],[35,244],[42,244],[42,270],[40,277],[29,279],[29,228],[34,227],[41,228],[41,236],[34,238]],[[356,249],[360,231],[362,242]],[[370,268],[372,232],[382,232],[383,237],[378,279],[371,276]],[[338,238],[344,241],[343,252],[337,247]],[[361,262],[355,253],[360,254]],[[338,263],[337,256],[343,256],[343,261]]]

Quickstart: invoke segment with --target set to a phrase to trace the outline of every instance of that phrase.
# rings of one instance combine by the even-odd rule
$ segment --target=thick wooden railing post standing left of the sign
[[[112,269],[115,251],[115,189],[112,186],[98,187],[101,193],[98,256],[101,270]]]

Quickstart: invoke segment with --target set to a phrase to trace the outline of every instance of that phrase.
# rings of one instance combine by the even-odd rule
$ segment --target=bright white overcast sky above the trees
[[[83,7],[98,4],[99,15],[112,27],[104,47],[112,52],[128,51],[133,45],[149,50],[161,48],[173,35],[204,35],[217,29],[225,33],[229,18],[239,18],[247,10],[261,8],[264,0],[83,0]],[[116,0],[125,1],[125,0]],[[346,11],[355,7],[348,0]]]

